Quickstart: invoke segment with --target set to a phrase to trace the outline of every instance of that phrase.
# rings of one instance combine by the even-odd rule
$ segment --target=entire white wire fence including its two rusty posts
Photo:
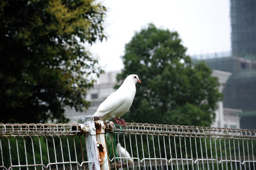
[[[256,130],[128,123],[0,124],[2,170],[256,170]]]

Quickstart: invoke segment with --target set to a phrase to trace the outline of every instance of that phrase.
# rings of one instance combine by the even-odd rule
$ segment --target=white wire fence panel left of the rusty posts
[[[0,169],[88,169],[79,124],[0,124]]]

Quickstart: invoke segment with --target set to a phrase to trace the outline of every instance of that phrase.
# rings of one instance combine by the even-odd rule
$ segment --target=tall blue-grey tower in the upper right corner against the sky
[[[230,0],[231,45],[233,55],[254,55],[256,59],[255,0]]]

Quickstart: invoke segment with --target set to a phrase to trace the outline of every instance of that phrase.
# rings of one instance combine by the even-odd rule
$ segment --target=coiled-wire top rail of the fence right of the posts
[[[115,127],[117,133],[183,137],[235,138],[256,140],[256,130],[221,127],[196,127],[162,124],[127,123],[127,127]]]

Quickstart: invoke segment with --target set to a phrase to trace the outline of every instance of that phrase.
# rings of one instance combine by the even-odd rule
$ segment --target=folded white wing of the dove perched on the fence
[[[118,108],[124,101],[125,95],[123,93],[111,93],[104,102],[101,103],[94,116],[104,116],[109,112]]]

